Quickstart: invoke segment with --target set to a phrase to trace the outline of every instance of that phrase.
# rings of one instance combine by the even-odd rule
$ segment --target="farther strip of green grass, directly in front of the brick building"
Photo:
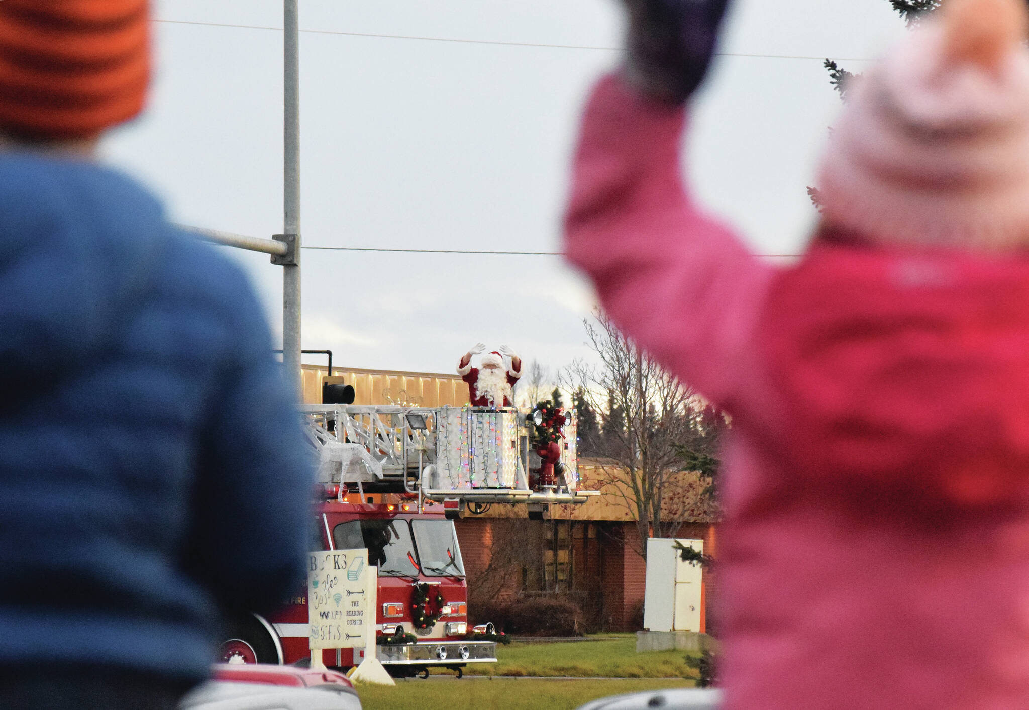
[[[636,635],[596,641],[497,644],[497,663],[470,664],[466,675],[573,678],[696,678],[685,651],[636,652]],[[448,671],[449,673],[449,671]]]

